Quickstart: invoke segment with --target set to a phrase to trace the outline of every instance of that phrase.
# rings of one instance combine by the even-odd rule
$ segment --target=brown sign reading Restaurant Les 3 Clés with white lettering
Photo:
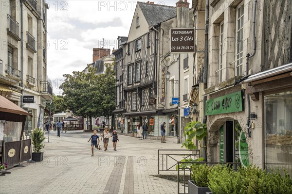
[[[170,29],[170,52],[195,52],[195,29]]]

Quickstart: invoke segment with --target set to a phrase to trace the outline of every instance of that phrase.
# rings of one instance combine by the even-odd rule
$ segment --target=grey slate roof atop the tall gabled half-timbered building
[[[139,2],[141,11],[150,26],[156,26],[176,16],[176,7]]]

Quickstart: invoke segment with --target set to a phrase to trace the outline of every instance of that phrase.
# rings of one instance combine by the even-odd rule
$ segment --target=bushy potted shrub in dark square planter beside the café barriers
[[[45,146],[42,144],[45,141],[44,131],[40,128],[32,130],[32,144],[34,145],[34,152],[32,153],[32,160],[40,162],[43,160],[43,152],[40,150]]]

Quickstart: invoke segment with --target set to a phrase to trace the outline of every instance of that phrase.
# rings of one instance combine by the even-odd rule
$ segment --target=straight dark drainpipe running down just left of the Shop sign
[[[205,45],[204,45],[204,70],[203,70],[203,83],[204,89],[207,88],[207,81],[208,81],[208,35],[209,35],[209,0],[206,0],[206,13],[205,13]],[[205,107],[206,107],[207,96],[204,96],[203,99],[203,124],[207,122],[207,116],[205,115]],[[203,139],[203,158],[207,161],[207,138],[204,137]]]

